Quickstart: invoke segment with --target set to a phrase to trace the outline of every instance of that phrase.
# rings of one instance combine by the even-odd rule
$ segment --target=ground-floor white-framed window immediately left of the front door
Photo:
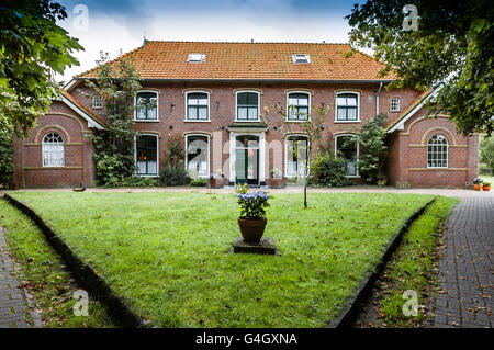
[[[191,178],[210,176],[210,136],[186,135],[186,170]]]

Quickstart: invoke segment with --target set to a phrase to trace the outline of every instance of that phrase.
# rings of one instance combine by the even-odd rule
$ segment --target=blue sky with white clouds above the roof
[[[147,39],[346,43],[344,19],[357,0],[59,0],[68,18],[58,24],[79,38],[80,66],[59,81]]]

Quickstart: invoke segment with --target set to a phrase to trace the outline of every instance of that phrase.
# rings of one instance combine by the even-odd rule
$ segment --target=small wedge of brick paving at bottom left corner
[[[5,246],[3,227],[0,226],[0,328],[31,328],[26,321],[27,313],[38,326],[40,317],[30,307],[25,291],[18,289],[19,283],[12,275],[14,264]]]

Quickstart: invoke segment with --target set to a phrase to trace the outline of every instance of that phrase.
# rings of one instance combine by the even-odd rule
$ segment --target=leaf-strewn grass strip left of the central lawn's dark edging
[[[7,227],[8,248],[14,256],[18,280],[33,296],[43,327],[112,327],[105,308],[90,300],[89,316],[75,316],[77,286],[65,271],[59,256],[37,226],[0,199],[0,224]]]

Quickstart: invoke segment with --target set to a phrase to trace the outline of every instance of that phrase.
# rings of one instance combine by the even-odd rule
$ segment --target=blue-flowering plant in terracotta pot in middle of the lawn
[[[247,185],[239,185],[236,189],[238,205],[240,206],[240,227],[244,241],[257,244],[265,234],[268,219],[265,217],[265,207],[269,206],[269,195],[263,191],[248,193]]]

